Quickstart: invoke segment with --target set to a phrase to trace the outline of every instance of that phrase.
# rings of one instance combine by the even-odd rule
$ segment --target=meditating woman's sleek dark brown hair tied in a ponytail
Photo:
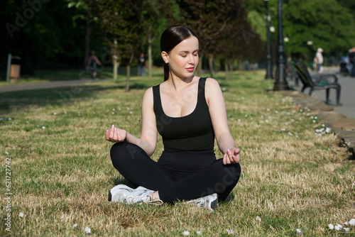
[[[170,53],[170,51],[178,45],[182,40],[190,38],[196,34],[185,26],[170,26],[167,28],[160,37],[160,51]],[[164,65],[164,81],[169,78],[169,65]]]

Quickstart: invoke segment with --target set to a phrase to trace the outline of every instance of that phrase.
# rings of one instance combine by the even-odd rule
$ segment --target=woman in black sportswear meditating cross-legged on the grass
[[[142,102],[141,137],[112,126],[106,139],[115,143],[111,160],[133,185],[119,184],[109,201],[173,203],[181,200],[212,211],[217,197],[226,199],[239,180],[239,148],[229,133],[219,84],[195,77],[199,41],[189,28],[171,26],[160,38],[164,82],[146,90]],[[158,133],[164,151],[151,160]],[[216,160],[214,137],[224,154]]]

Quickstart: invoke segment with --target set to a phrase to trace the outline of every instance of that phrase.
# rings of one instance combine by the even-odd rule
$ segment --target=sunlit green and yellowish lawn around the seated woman
[[[213,213],[180,203],[107,202],[109,189],[122,177],[111,165],[104,131],[115,124],[138,136],[143,92],[162,75],[132,77],[128,93],[121,79],[0,94],[0,188],[4,197],[12,193],[11,233],[87,236],[88,226],[91,236],[182,236],[183,231],[227,236],[227,230],[236,236],[296,236],[296,228],[302,236],[354,235],[354,226],[350,233],[328,229],[355,218],[354,161],[332,133],[315,134],[322,128],[317,114],[268,92],[273,81],[263,76],[259,71],[235,72],[230,81],[215,76],[241,148],[242,175],[231,200]],[[152,158],[162,150],[158,138]],[[217,148],[216,153],[222,157]],[[6,204],[1,199],[1,236],[9,236]]]

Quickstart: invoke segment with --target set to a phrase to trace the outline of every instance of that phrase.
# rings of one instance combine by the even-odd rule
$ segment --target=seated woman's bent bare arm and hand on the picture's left
[[[152,88],[148,89],[143,95],[141,138],[137,138],[131,133],[128,133],[126,130],[115,128],[114,126],[106,132],[105,138],[113,143],[119,143],[126,140],[129,143],[140,146],[149,156],[153,155],[156,148],[158,131],[153,111]]]

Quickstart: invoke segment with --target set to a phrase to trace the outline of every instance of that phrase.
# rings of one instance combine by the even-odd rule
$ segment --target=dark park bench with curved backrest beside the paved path
[[[334,74],[320,74],[311,76],[308,72],[305,63],[302,61],[297,61],[294,64],[295,70],[298,77],[303,83],[301,92],[304,92],[307,87],[310,87],[310,95],[315,90],[325,89],[326,90],[326,103],[329,104],[329,89],[337,90],[337,106],[340,105],[340,91],[341,87],[338,83],[338,77]]]

